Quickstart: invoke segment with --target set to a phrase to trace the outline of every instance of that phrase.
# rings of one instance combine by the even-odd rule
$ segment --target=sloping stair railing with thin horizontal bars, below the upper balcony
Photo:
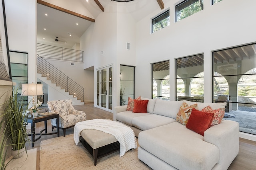
[[[84,88],[39,55],[37,55],[37,72],[46,77],[47,80],[51,80],[56,86],[60,86],[65,92],[69,92],[69,94],[84,102]]]

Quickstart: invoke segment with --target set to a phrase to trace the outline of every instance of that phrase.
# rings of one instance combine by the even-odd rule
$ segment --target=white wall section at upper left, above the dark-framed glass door
[[[28,83],[36,82],[36,1],[4,2],[9,49],[28,53]]]

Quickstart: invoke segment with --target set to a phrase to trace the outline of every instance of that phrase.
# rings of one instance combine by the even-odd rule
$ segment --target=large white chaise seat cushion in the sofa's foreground
[[[219,160],[219,149],[178,122],[139,133],[140,147],[177,169],[210,170]]]

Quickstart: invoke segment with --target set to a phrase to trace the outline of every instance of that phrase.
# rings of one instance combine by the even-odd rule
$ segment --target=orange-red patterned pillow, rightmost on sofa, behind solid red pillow
[[[214,110],[212,109],[211,106],[206,106],[201,111],[204,111],[207,113],[214,113],[211,126],[220,124],[225,114],[225,108],[219,108]]]

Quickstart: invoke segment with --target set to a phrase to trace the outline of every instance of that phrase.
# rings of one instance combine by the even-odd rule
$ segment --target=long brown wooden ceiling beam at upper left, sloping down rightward
[[[95,20],[92,19],[92,18],[90,18],[90,17],[87,17],[87,16],[84,16],[84,15],[82,15],[82,14],[78,14],[78,13],[76,13],[76,12],[73,12],[73,11],[70,11],[70,10],[67,10],[67,9],[64,9],[64,8],[61,8],[61,7],[59,7],[59,6],[56,6],[56,5],[54,5],[54,4],[50,4],[50,3],[48,3],[48,2],[44,2],[44,1],[42,1],[42,0],[37,0],[37,3],[38,3],[38,4],[41,4],[41,5],[44,5],[44,6],[48,6],[48,7],[50,7],[50,8],[55,9],[55,10],[59,10],[59,11],[65,12],[65,13],[70,14],[70,15],[73,15],[73,16],[77,16],[77,17],[82,18],[82,19],[84,19],[84,20],[88,20],[88,21],[91,21],[91,22],[95,22]]]

